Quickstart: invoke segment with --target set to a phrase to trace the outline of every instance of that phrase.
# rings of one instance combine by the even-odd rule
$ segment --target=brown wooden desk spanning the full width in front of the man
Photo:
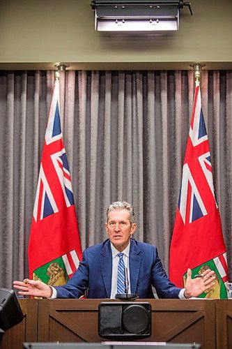
[[[112,299],[20,299],[24,320],[6,331],[1,349],[23,342],[100,343],[98,305]],[[120,301],[115,301],[120,302]],[[148,342],[200,343],[205,349],[232,348],[232,302],[212,299],[137,299],[152,307]]]

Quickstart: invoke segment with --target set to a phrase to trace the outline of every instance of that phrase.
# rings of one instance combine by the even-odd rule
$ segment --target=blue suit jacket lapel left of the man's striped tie
[[[102,278],[107,292],[107,298],[111,293],[111,276],[112,276],[112,253],[109,240],[103,246],[100,255],[100,266],[102,270]]]

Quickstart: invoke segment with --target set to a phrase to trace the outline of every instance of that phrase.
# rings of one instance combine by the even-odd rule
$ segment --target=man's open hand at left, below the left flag
[[[14,288],[20,290],[19,295],[50,298],[52,297],[52,288],[42,281],[24,279],[24,281],[14,281]]]

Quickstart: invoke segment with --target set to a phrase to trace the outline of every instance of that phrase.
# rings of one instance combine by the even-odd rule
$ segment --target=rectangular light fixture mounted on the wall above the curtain
[[[173,31],[179,12],[190,3],[180,0],[93,0],[96,31]],[[192,14],[192,10],[190,8]]]

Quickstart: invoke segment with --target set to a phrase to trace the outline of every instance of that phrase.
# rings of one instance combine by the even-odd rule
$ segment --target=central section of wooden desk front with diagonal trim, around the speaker
[[[98,304],[105,299],[42,299],[38,341],[97,342]],[[215,301],[139,299],[152,306],[152,335],[146,341],[201,343],[215,348]]]

